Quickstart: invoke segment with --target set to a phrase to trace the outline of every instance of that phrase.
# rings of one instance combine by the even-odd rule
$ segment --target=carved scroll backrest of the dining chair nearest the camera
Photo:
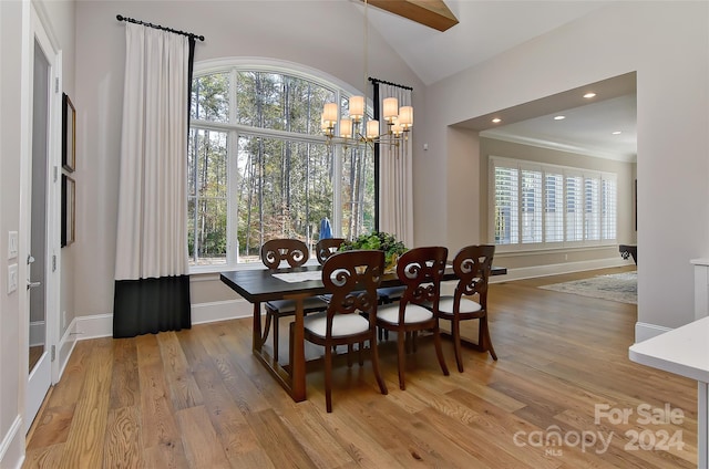
[[[377,289],[384,271],[384,252],[336,252],[322,264],[322,284],[332,295],[328,306],[328,333],[335,314],[364,312],[377,316]]]

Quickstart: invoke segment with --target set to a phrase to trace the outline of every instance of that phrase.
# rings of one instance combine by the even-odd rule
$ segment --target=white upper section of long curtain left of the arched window
[[[126,23],[115,280],[186,274],[185,35]]]

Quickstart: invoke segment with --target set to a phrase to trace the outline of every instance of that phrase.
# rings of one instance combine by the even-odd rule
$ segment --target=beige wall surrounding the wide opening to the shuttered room
[[[417,138],[429,145],[415,160],[417,241],[460,242],[480,233],[480,218],[454,218],[449,200],[480,202],[475,190],[450,184],[481,179],[479,148],[451,125],[600,80],[637,72],[638,323],[636,333],[693,320],[690,259],[709,254],[709,4],[614,2],[558,30],[427,88]],[[461,155],[461,148],[467,154]],[[472,160],[465,160],[470,158]],[[691,216],[684,209],[697,201]],[[460,204],[460,202],[459,202]],[[678,228],[680,227],[680,228]],[[658,253],[653,256],[651,253]]]

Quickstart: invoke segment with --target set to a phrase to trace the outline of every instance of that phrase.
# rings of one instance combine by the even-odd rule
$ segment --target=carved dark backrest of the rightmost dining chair
[[[487,303],[487,281],[492,271],[492,259],[495,254],[493,244],[466,246],[458,251],[453,259],[453,271],[458,277],[455,301],[463,295],[480,296],[483,309]]]

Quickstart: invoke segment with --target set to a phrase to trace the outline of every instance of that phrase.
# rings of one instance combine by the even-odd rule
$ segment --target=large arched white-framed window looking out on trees
[[[321,74],[323,75],[323,74]],[[188,249],[194,272],[259,261],[264,241],[312,246],[374,227],[371,152],[327,145],[327,102],[351,95],[312,71],[282,65],[197,65],[188,150]]]

